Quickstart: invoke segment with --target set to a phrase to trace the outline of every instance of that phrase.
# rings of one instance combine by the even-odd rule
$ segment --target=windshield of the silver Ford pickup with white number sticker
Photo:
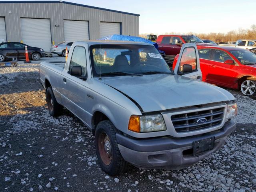
[[[102,44],[90,46],[94,76],[172,74],[154,46]]]

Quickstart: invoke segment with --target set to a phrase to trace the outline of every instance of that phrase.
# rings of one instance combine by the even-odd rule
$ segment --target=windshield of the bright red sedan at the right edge
[[[235,50],[230,51],[242,64],[244,65],[255,65],[256,64],[256,54],[248,50]]]

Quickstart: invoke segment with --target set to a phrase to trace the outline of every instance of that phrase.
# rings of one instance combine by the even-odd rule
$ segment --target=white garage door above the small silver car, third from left
[[[89,40],[88,21],[64,20],[64,40],[65,41]]]

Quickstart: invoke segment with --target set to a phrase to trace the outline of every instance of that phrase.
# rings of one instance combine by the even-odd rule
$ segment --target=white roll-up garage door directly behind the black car
[[[24,44],[50,51],[52,39],[49,19],[21,18],[20,22]]]

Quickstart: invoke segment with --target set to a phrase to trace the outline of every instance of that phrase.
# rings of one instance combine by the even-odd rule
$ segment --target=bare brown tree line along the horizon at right
[[[149,34],[149,33],[148,33]],[[175,32],[167,32],[164,33],[164,35],[168,34],[179,34]],[[210,39],[214,42],[232,42],[236,41],[238,39],[256,39],[256,24],[253,24],[250,29],[242,29],[238,28],[238,30],[231,30],[227,33],[194,33],[194,32],[188,32],[187,35],[196,35],[201,39]],[[145,34],[140,34],[140,37],[145,38]]]

